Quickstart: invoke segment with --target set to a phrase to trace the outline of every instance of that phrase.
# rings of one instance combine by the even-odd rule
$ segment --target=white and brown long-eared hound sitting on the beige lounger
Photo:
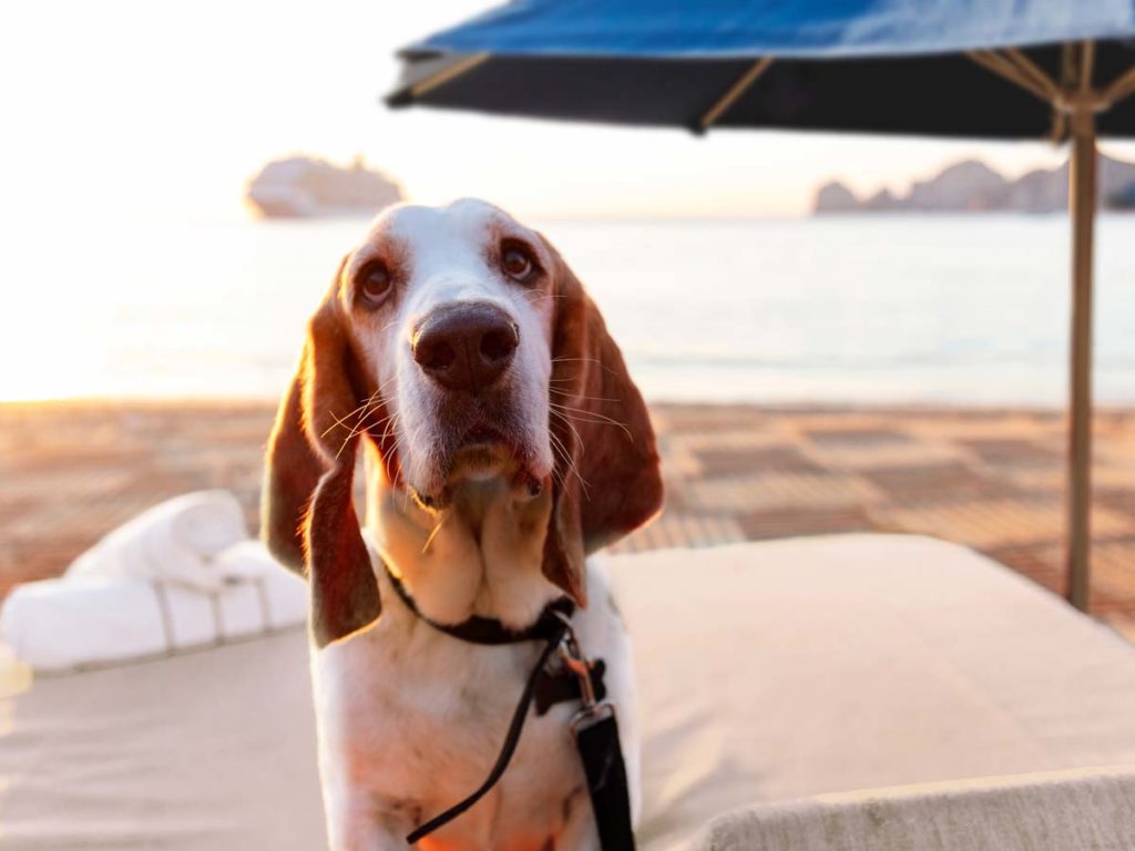
[[[309,322],[262,503],[270,550],[310,581],[334,851],[406,848],[495,761],[540,644],[486,647],[437,625],[522,632],[565,597],[582,650],[603,660],[637,811],[631,649],[588,556],[662,499],[642,398],[548,241],[476,200],[382,212]],[[530,710],[501,781],[417,846],[598,849],[577,709]]]

